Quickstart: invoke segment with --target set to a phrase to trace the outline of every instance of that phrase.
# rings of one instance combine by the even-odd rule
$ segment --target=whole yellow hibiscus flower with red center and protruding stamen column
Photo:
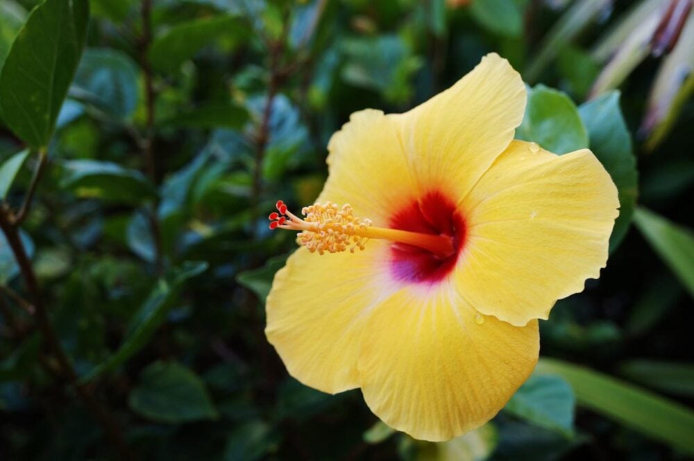
[[[270,217],[303,244],[266,301],[291,376],[359,387],[386,424],[430,441],[484,424],[530,376],[537,319],[598,278],[618,199],[591,151],[513,140],[525,101],[489,54],[421,106],[356,112],[332,136],[318,203]]]

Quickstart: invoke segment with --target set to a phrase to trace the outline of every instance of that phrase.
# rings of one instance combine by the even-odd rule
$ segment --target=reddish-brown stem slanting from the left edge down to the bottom
[[[130,453],[130,449],[128,449],[125,439],[115,424],[109,410],[94,398],[85,385],[78,383],[77,373],[67,358],[65,351],[62,349],[60,340],[58,340],[58,335],[56,335],[56,330],[53,329],[53,324],[51,324],[51,319],[43,303],[36,274],[31,265],[31,260],[29,260],[26,249],[24,249],[24,244],[19,238],[19,229],[12,224],[10,217],[10,208],[3,203],[0,206],[0,229],[5,234],[7,243],[12,253],[15,255],[15,260],[17,260],[17,265],[19,265],[22,278],[24,278],[26,289],[29,294],[31,294],[31,299],[33,299],[33,306],[35,308],[34,318],[36,319],[37,326],[42,333],[46,346],[56,358],[58,366],[60,367],[60,373],[67,379],[69,385],[75,389],[79,398],[85,404],[85,407],[87,407],[87,410],[92,413],[94,419],[99,422],[105,437],[117,451],[119,457],[121,459],[133,459],[133,453]]]

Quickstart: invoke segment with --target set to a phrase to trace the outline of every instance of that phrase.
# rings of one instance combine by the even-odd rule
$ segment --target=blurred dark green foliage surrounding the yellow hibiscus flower
[[[0,0],[0,458],[694,455],[691,3]],[[621,214],[532,378],[429,444],[287,376],[266,215],[312,203],[350,112],[489,51],[529,85],[517,137],[590,146]]]

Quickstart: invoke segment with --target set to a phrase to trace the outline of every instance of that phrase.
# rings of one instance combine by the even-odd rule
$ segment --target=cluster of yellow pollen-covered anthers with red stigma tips
[[[371,220],[355,217],[348,203],[341,207],[332,202],[314,203],[301,210],[304,219],[289,212],[281,200],[277,202],[276,208],[280,215],[271,213],[270,228],[299,230],[296,241],[312,253],[318,251],[322,255],[325,252],[340,253],[347,250],[354,253],[357,249],[363,250],[369,240],[359,234],[363,234],[371,226]]]

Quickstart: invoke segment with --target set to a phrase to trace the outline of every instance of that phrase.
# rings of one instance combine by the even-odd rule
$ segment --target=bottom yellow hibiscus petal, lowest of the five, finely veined
[[[409,287],[375,308],[359,376],[367,405],[388,426],[451,439],[489,421],[530,376],[537,322],[516,327],[476,314],[450,283]]]

